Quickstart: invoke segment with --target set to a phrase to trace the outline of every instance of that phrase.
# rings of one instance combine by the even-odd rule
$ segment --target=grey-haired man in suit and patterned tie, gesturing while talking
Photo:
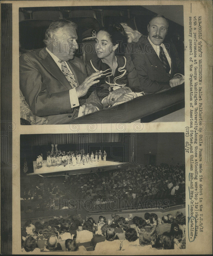
[[[64,19],[52,22],[45,34],[46,47],[19,59],[20,89],[33,114],[45,117],[47,124],[77,117],[88,89],[102,76],[99,71],[87,77],[84,62],[74,57],[76,28]]]

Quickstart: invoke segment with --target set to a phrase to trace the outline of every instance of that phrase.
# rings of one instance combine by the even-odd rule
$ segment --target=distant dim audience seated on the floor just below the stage
[[[25,205],[25,201],[28,198],[28,200],[33,202],[34,197],[36,198],[40,194],[42,198],[39,199],[39,204],[46,211],[50,209],[50,206],[51,209],[58,208],[59,198],[67,197],[73,200],[87,200],[91,193],[98,193],[99,201],[102,201],[102,204],[106,204],[106,202],[114,201],[118,197],[121,199],[130,198],[131,191],[134,189],[136,191],[136,198],[145,195],[154,195],[159,191],[170,191],[171,188],[169,189],[167,186],[168,180],[174,180],[174,183],[178,184],[179,189],[175,191],[178,193],[176,196],[178,196],[179,193],[185,191],[184,170],[185,167],[180,165],[147,165],[143,169],[130,168],[127,170],[112,170],[95,174],[71,175],[70,180],[67,180],[66,184],[63,180],[60,182],[60,179],[56,179],[55,177],[48,177],[48,179],[40,179],[38,177],[34,180],[34,184],[26,183],[26,185],[21,187],[21,197],[24,199],[22,200],[22,205]],[[56,199],[48,199],[52,197]],[[94,197],[93,200],[95,201],[96,198]],[[34,207],[31,204],[32,211],[34,211],[37,204],[36,202]],[[27,206],[28,204],[26,204],[25,208]]]

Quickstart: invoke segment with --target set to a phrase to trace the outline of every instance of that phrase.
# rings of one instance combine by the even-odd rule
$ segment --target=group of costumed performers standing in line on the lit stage
[[[101,161],[103,159],[103,161],[106,161],[106,157],[107,157],[107,153],[104,150],[104,153],[101,152],[101,150],[99,150],[99,152],[97,152],[97,150],[95,151],[95,154],[93,152],[91,152],[90,156],[89,153],[85,154],[84,149],[80,150],[79,152],[75,151],[75,152],[61,152],[60,150],[57,149],[57,144],[55,145],[55,151],[54,151],[54,145],[52,144],[52,150],[51,152],[48,151],[47,152],[47,166],[59,166],[59,165],[64,165],[66,166],[67,164],[72,164],[72,165],[76,165],[76,164],[81,164],[83,163],[83,165],[85,165],[85,163],[89,163],[93,162],[93,161]],[[41,168],[42,167],[42,163],[43,163],[43,157],[42,154],[38,156],[37,158],[37,168]]]

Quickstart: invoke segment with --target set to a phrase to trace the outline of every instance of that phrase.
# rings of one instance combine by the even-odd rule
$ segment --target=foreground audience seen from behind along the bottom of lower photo
[[[140,255],[146,248],[168,249],[170,248],[170,245],[168,246],[169,243],[174,244],[175,249],[185,248],[186,226],[185,216],[182,212],[178,211],[175,216],[168,214],[170,219],[174,219],[174,223],[172,224],[164,223],[164,221],[166,222],[165,219],[167,219],[168,221],[168,216],[166,215],[162,216],[163,223],[161,223],[160,217],[158,217],[156,221],[156,216],[153,213],[145,214],[145,216],[146,218],[150,216],[153,217],[153,224],[151,224],[150,220],[149,224],[147,224],[146,220],[142,217],[134,216],[134,224],[129,225],[128,221],[124,221],[124,217],[119,215],[115,216],[115,222],[117,222],[118,226],[121,225],[123,233],[116,233],[116,228],[109,228],[109,225],[107,223],[99,222],[97,225],[97,231],[95,236],[93,236],[92,232],[92,223],[94,221],[92,217],[87,217],[87,221],[83,224],[84,227],[82,231],[79,231],[80,229],[82,229],[82,225],[79,221],[79,219],[82,219],[81,215],[68,215],[67,218],[63,218],[62,216],[60,216],[59,218],[55,217],[54,219],[49,219],[49,221],[44,221],[40,219],[34,224],[31,220],[28,220],[22,226],[22,250],[24,252],[24,242],[26,240],[28,241],[29,237],[32,238],[29,239],[29,245],[27,246],[30,249],[26,250],[34,250],[35,246],[33,247],[33,244],[36,243],[36,247],[41,250],[44,249],[44,251],[80,251],[86,250],[87,248],[89,250],[91,250],[91,248],[95,248],[96,253],[101,253],[101,250],[103,250],[103,248],[107,248],[106,252],[111,254],[115,254],[115,250],[125,250],[126,254],[139,253]],[[104,218],[106,218],[104,215],[100,216],[100,220]],[[92,221],[88,221],[88,219],[92,219]],[[83,222],[84,220],[82,221],[82,223]],[[152,225],[152,227],[150,225]],[[165,229],[165,226],[167,227],[168,225],[170,225],[171,229],[166,231],[166,236],[162,236],[163,234],[165,234],[165,232],[163,231],[163,233],[160,234],[161,240],[158,238],[155,242],[156,231],[159,231],[162,228]],[[35,232],[33,231],[35,230],[35,226],[39,230],[39,235],[35,235]],[[155,226],[157,227],[155,228]],[[40,228],[42,227],[44,229],[40,231]],[[64,229],[64,227],[66,228]],[[89,231],[88,229],[91,231]],[[62,231],[66,232],[62,233]],[[72,236],[70,232],[73,232]],[[77,238],[81,240],[80,243],[74,238],[76,233],[80,234]],[[68,235],[69,237],[71,237],[71,239],[69,238],[65,240],[66,237],[63,237],[63,234]],[[86,249],[81,246],[81,242],[86,243]],[[164,246],[162,242],[164,242]],[[75,243],[77,243],[77,247],[79,244],[78,249]]]

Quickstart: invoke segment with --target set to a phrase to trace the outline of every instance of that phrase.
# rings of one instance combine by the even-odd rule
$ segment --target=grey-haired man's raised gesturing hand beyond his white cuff
[[[91,76],[87,77],[81,85],[76,87],[78,98],[86,95],[90,86],[92,86],[95,83],[98,83],[100,80],[96,80],[96,79],[100,78],[101,76],[102,76],[102,70],[93,73]]]

